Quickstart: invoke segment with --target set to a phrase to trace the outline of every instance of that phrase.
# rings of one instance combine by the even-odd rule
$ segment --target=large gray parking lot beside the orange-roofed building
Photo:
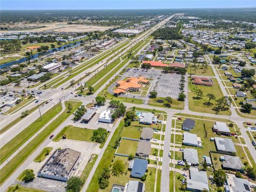
[[[178,98],[180,78],[181,75],[178,74],[163,74],[162,69],[135,69],[130,68],[127,70],[121,79],[125,77],[139,77],[143,76],[145,78],[152,78],[150,83],[153,85],[150,91],[154,89],[157,92],[157,97],[167,97]]]

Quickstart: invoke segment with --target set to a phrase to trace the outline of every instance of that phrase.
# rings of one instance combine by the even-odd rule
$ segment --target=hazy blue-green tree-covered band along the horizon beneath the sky
[[[158,9],[158,10],[2,10],[1,22],[46,22],[46,21],[77,21],[79,19],[134,21],[154,15],[186,13],[190,16],[208,20],[233,20],[256,22],[255,8],[241,9]]]

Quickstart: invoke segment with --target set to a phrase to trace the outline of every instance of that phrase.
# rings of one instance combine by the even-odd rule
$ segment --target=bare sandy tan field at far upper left
[[[56,23],[35,23],[30,24],[30,26],[46,26],[38,29],[22,29],[22,30],[1,30],[1,33],[13,32],[13,31],[35,31],[42,32],[47,30],[57,31],[57,32],[87,32],[87,31],[95,31],[95,30],[107,30],[113,28],[114,26],[92,26],[92,25],[68,25],[66,22],[56,22]],[[24,25],[23,25],[24,26]]]

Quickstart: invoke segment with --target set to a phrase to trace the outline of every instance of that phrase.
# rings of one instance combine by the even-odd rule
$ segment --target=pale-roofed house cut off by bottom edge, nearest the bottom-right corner
[[[233,177],[232,177],[233,176]],[[250,192],[250,183],[247,179],[236,178],[233,174],[228,174],[226,192]]]

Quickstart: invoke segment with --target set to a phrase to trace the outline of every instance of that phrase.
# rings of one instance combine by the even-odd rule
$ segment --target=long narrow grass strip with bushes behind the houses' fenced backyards
[[[123,128],[124,128],[124,120],[122,119],[122,121],[120,122],[120,124],[118,125],[116,131],[114,132],[101,160],[100,163],[97,167],[97,169],[95,170],[95,173],[92,177],[92,180],[90,182],[90,185],[87,188],[87,192],[97,192],[99,190],[99,183],[98,183],[98,178],[99,175],[103,169],[103,167],[109,167],[112,159],[115,155],[115,151],[116,149],[114,148],[115,146],[115,142],[116,140],[121,136],[122,132],[123,132]]]

